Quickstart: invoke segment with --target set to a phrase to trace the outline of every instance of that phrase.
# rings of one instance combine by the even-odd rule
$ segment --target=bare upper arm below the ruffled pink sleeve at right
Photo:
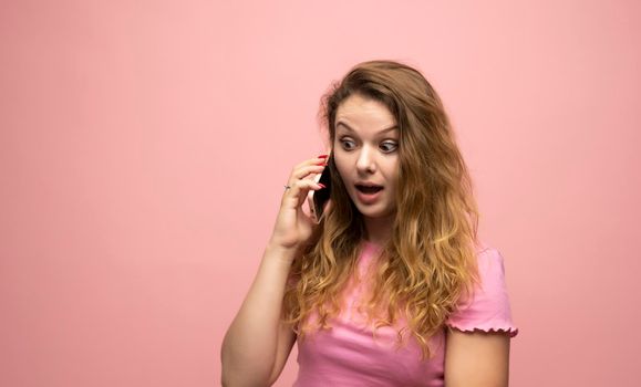
[[[509,335],[453,328],[446,332],[445,386],[508,386]]]

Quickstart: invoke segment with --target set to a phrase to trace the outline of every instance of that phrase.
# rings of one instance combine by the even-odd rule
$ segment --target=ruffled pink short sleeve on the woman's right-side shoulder
[[[477,253],[477,260],[480,284],[445,324],[463,332],[504,332],[514,337],[518,328],[511,321],[503,257],[498,250],[485,248]]]

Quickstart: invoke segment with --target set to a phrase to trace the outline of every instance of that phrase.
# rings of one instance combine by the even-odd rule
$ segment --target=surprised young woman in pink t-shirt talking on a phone
[[[322,100],[331,156],[289,177],[223,344],[225,386],[507,386],[503,258],[477,240],[472,182],[436,92],[401,63],[353,67]],[[313,176],[330,168],[331,187]],[[330,189],[319,224],[302,206]]]

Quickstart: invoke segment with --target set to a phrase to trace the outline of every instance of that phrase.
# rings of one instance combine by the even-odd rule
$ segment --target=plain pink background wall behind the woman
[[[519,3],[3,1],[0,385],[218,385],[320,95],[395,59],[506,259],[513,385],[637,386],[641,3]]]

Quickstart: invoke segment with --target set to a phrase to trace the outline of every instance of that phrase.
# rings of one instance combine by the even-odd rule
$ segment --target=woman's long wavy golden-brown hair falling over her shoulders
[[[410,333],[425,359],[432,354],[430,337],[443,330],[478,282],[478,210],[472,180],[441,98],[418,71],[370,61],[334,83],[321,98],[319,113],[332,147],[337,111],[354,94],[384,104],[400,132],[396,213],[365,303],[368,316],[375,328],[404,318],[399,343]],[[312,312],[321,328],[330,327],[341,312],[340,293],[355,272],[365,237],[362,215],[333,158],[328,167],[332,206],[294,259],[283,299],[283,321],[299,339],[312,330],[307,324]]]

